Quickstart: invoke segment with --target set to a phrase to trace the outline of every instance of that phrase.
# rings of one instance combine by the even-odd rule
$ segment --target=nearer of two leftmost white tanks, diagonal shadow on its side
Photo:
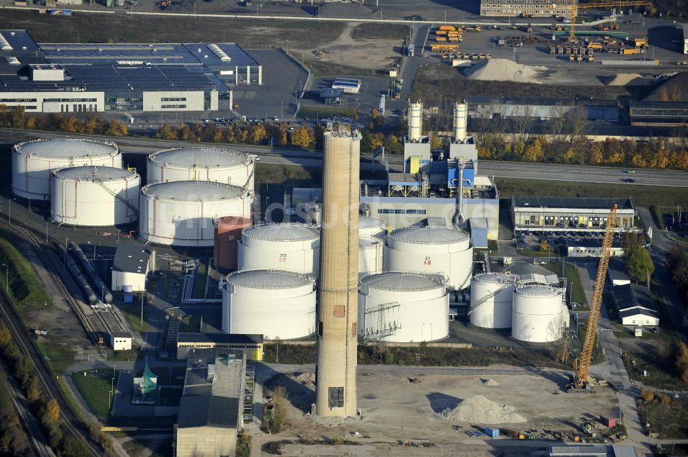
[[[50,217],[70,225],[118,225],[138,219],[140,176],[110,166],[52,172]]]

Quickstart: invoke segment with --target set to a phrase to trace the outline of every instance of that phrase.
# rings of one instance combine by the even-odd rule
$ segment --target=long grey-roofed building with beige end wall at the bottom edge
[[[175,425],[177,457],[233,456],[244,408],[246,357],[235,349],[189,351]]]

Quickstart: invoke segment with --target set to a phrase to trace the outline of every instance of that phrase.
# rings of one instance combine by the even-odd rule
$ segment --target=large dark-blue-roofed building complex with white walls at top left
[[[262,84],[262,67],[233,43],[37,44],[0,30],[0,102],[29,113],[216,111],[232,87]]]

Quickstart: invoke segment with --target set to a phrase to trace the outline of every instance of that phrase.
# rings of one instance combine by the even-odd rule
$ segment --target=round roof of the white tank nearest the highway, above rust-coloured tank
[[[168,164],[190,168],[194,166],[223,168],[244,165],[246,162],[255,161],[255,155],[230,149],[192,146],[189,148],[173,148],[158,151],[149,155],[148,159],[160,165]]]

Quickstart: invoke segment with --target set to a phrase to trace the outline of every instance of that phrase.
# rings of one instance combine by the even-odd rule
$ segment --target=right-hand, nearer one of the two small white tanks
[[[531,343],[561,338],[562,294],[561,289],[541,285],[515,289],[511,336]]]

